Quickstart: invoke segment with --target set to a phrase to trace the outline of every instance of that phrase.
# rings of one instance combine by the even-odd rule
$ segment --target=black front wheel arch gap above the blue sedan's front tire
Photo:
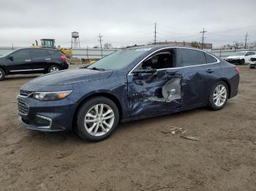
[[[117,108],[118,108],[118,112],[119,112],[119,119],[121,120],[122,117],[123,117],[123,109],[122,109],[122,106],[121,106],[121,102],[119,101],[119,99],[117,98],[116,95],[113,95],[113,93],[109,93],[109,92],[97,92],[97,93],[91,93],[90,95],[87,95],[83,98],[80,99],[79,103],[78,103],[78,106],[76,107],[75,109],[75,112],[74,112],[74,115],[73,115],[73,119],[72,119],[72,127],[74,128],[75,125],[76,125],[76,117],[77,117],[77,114],[78,114],[78,111],[80,109],[80,107],[86,102],[88,101],[89,99],[91,98],[95,98],[95,97],[98,97],[98,96],[102,96],[102,97],[105,97],[105,98],[109,98],[111,101],[113,101]],[[119,121],[120,121],[119,120]]]

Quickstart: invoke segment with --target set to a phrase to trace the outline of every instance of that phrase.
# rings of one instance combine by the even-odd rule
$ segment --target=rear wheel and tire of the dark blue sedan
[[[227,104],[229,91],[227,84],[223,81],[217,82],[211,89],[209,106],[213,110],[219,110]]]

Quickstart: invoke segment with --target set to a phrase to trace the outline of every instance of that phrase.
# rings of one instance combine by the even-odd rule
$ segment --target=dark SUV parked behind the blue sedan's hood
[[[46,74],[68,68],[67,58],[59,50],[22,48],[0,57],[0,81],[9,74]]]

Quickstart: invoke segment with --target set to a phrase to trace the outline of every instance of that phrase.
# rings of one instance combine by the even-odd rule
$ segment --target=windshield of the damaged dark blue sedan
[[[144,49],[127,49],[119,50],[114,52],[99,61],[91,64],[87,69],[102,69],[102,70],[118,70],[122,69],[125,66],[128,66],[129,63],[132,63],[140,55],[143,55],[145,52],[150,50],[150,48]]]

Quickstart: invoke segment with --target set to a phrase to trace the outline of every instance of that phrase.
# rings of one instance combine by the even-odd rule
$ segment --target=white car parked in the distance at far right
[[[244,64],[249,63],[249,59],[255,55],[255,52],[252,51],[241,51],[236,52],[235,55],[228,56],[225,61],[233,64]]]

